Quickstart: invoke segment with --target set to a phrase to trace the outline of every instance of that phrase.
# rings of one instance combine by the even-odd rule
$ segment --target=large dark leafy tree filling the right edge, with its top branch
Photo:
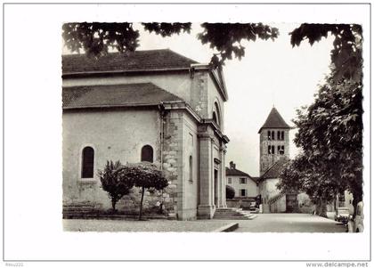
[[[314,200],[345,190],[362,200],[362,29],[357,25],[303,24],[291,44],[313,45],[331,34],[331,71],[309,107],[297,110],[295,143],[302,154],[283,171],[280,189],[297,188]]]

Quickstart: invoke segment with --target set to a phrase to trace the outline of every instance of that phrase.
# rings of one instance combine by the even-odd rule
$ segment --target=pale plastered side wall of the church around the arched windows
[[[97,170],[102,169],[107,160],[120,160],[122,164],[139,162],[142,146],[150,144],[154,162],[160,161],[158,110],[64,112],[62,124],[65,203],[92,201],[109,208],[110,199],[100,188],[97,175]],[[85,146],[94,149],[91,180],[80,178],[81,152]]]

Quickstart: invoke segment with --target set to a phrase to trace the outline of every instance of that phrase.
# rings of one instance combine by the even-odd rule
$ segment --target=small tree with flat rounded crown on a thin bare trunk
[[[134,186],[142,189],[139,220],[142,220],[142,201],[146,189],[162,190],[167,187],[167,179],[159,168],[149,162],[129,164],[126,166],[126,176],[131,178]]]

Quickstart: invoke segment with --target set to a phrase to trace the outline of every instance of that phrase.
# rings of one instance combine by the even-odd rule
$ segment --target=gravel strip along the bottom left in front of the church
[[[215,231],[236,221],[63,220],[64,231]]]

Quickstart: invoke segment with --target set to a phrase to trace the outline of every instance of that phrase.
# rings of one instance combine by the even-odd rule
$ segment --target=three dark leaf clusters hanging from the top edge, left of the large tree
[[[203,45],[215,50],[211,64],[224,65],[224,61],[233,57],[241,59],[245,55],[242,41],[259,39],[274,40],[279,35],[278,28],[262,23],[202,23],[203,31],[197,38]],[[142,27],[161,37],[190,33],[191,23],[142,23]],[[109,52],[109,48],[121,53],[134,52],[139,46],[139,30],[129,22],[72,22],[62,27],[62,37],[71,52],[81,52],[100,57]]]

